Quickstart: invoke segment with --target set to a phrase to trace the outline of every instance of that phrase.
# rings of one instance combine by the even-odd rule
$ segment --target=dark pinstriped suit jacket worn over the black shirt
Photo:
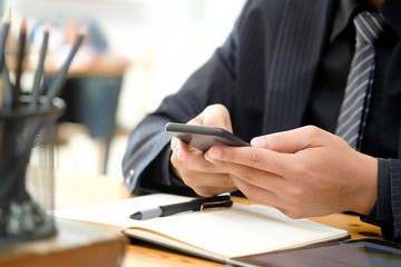
[[[133,131],[123,165],[129,191],[169,144],[165,123],[187,122],[208,105],[225,105],[245,140],[300,127],[332,17],[333,0],[248,1],[224,46]],[[401,88],[400,43],[397,49],[400,60],[391,63],[399,71],[388,86]],[[400,161],[391,166],[401,180]]]

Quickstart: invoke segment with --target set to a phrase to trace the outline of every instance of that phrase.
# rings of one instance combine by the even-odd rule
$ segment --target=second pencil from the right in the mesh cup
[[[40,80],[43,76],[43,70],[45,70],[45,58],[46,58],[46,51],[47,51],[47,46],[48,46],[48,41],[49,41],[49,31],[50,31],[50,23],[46,23],[45,29],[43,29],[43,40],[42,40],[42,46],[40,49],[40,58],[39,58],[39,62],[38,62],[38,68],[35,72],[35,80],[33,80],[32,95],[31,95],[32,98],[31,98],[31,102],[29,105],[31,109],[37,107],[39,97],[40,97],[40,95],[42,95],[42,90],[40,87]]]

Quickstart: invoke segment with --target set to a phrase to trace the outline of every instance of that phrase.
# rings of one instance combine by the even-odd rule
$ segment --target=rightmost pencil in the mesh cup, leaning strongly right
[[[86,36],[87,29],[86,28],[80,28],[79,29],[79,33],[72,44],[71,51],[68,55],[68,58],[66,60],[66,62],[63,63],[63,66],[61,67],[61,69],[57,72],[57,75],[55,76],[55,78],[52,79],[50,86],[49,86],[49,90],[47,92],[47,99],[46,99],[46,103],[47,105],[51,105],[51,101],[55,97],[59,96],[59,93],[61,92],[63,82],[66,80],[67,77],[67,71],[69,66],[71,65],[71,61],[75,57],[75,55],[78,51],[79,46],[81,44],[85,36]]]

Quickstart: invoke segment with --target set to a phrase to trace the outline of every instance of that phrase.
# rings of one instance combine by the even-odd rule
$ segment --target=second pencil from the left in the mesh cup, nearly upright
[[[22,65],[25,57],[25,48],[27,40],[27,21],[22,20],[19,40],[18,40],[18,58],[17,58],[17,69],[16,69],[16,85],[12,93],[12,107],[19,105],[19,98],[21,96],[21,76],[22,76]]]

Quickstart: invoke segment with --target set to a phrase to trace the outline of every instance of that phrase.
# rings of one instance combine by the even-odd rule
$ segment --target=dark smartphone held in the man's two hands
[[[217,127],[168,122],[165,130],[190,146],[207,151],[213,146],[248,147],[248,142]]]

